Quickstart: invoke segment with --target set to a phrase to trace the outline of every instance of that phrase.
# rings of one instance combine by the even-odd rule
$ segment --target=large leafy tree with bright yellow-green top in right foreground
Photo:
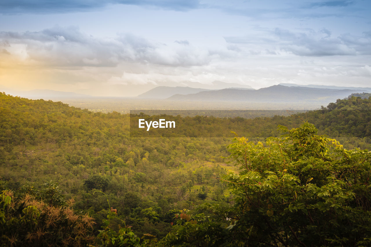
[[[283,135],[264,144],[236,137],[229,145],[241,169],[224,177],[234,204],[204,205],[215,218],[198,220],[198,228],[223,229],[213,240],[220,246],[370,246],[371,152],[344,149],[306,122],[279,129]],[[175,228],[165,243],[208,246],[181,240],[194,234],[190,221]]]

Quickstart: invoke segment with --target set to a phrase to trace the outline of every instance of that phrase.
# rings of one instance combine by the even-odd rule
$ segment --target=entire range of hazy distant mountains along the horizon
[[[196,83],[196,82],[194,82]],[[196,83],[197,84],[197,83]],[[201,83],[200,83],[201,84]],[[237,87],[231,87],[236,86]],[[205,84],[202,84],[206,86]],[[250,103],[316,103],[316,105],[327,105],[329,102],[335,102],[337,99],[343,99],[352,93],[370,93],[371,88],[355,88],[355,87],[338,87],[324,85],[305,85],[281,83],[279,85],[270,86],[267,88],[253,89],[248,85],[240,85],[237,83],[226,83],[214,81],[214,86],[229,86],[223,89],[207,89],[207,88],[191,88],[188,86],[158,86],[150,89],[137,97],[131,99],[153,99],[169,101],[203,101],[203,102],[250,102]],[[210,86],[210,85],[209,85]],[[6,93],[18,95],[29,99],[93,99],[101,97],[93,97],[90,95],[61,92],[55,90],[35,89],[29,91],[11,91]]]

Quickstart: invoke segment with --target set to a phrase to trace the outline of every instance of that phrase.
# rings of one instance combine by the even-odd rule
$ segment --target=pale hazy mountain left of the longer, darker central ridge
[[[152,88],[145,93],[138,95],[138,98],[148,98],[148,99],[166,99],[175,94],[184,95],[190,93],[198,93],[201,91],[209,91],[210,89],[204,88],[190,88],[190,87],[168,87],[168,86],[158,86]]]

